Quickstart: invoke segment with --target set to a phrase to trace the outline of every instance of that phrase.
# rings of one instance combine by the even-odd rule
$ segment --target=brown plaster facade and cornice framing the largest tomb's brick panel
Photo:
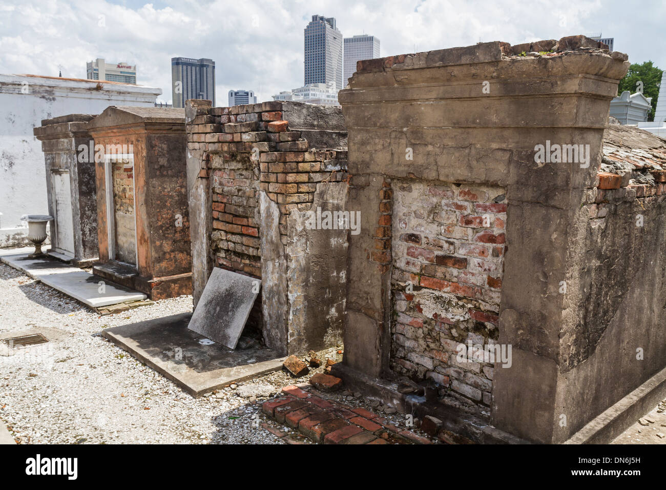
[[[583,41],[567,38],[562,46],[583,46]],[[577,223],[582,219],[583,196],[597,182],[609,101],[628,63],[622,53],[609,55],[603,49],[537,57],[511,54],[507,43],[480,43],[362,61],[350,89],[340,91],[348,130],[348,167],[353,175],[348,207],[364,210],[364,217],[368,216],[364,223],[370,224],[360,235],[350,237],[343,362],[351,371],[372,377],[392,374],[388,369],[394,311],[388,293],[390,257],[379,253],[372,257],[371,253],[381,240],[397,239],[390,233],[386,236],[386,227],[379,221],[383,215],[380,206],[384,202],[390,205],[393,199],[392,181],[500,187],[506,191],[507,248],[497,342],[513,347],[513,363],[510,368],[495,365],[491,419],[498,429],[518,437],[561,442],[577,424],[609,406],[609,398],[625,395],[629,385],[642,383],[662,362],[655,359],[653,364],[637,367],[643,369],[640,374],[634,371],[617,381],[619,373],[611,357],[617,357],[623,348],[628,356],[629,348],[622,348],[616,337],[613,345],[605,347],[597,368],[581,362],[582,357],[574,361],[579,369],[589,369],[594,375],[573,381],[573,377],[567,378],[567,370],[573,366],[563,363],[562,356],[566,349],[563,333],[581,333],[590,345],[590,334],[599,327],[594,323],[599,315],[583,327],[581,310],[569,307],[571,301],[580,304],[576,301],[583,290],[579,283],[569,283],[567,294],[559,289],[561,281],[579,275],[582,264],[573,257],[583,261],[589,252]],[[537,162],[535,147],[547,141],[587,145],[587,165],[581,161]],[[406,157],[407,151],[412,159]],[[587,247],[591,245],[588,241]],[[656,250],[648,247],[646,251]],[[599,262],[597,253],[602,252],[591,254],[590,264]],[[642,250],[637,257],[645,257]],[[415,292],[423,288],[421,279],[414,277]],[[604,283],[601,274],[594,279],[595,285]],[[621,284],[611,289],[620,291]],[[627,313],[631,311],[634,317],[641,304],[635,301],[639,291],[654,298],[661,279],[651,276],[647,285],[635,284],[635,294],[630,291],[625,297]],[[460,290],[459,283],[438,285]],[[591,297],[585,296],[589,309]],[[654,299],[645,307],[655,311],[659,301]],[[605,305],[606,313],[617,306],[599,304]],[[624,321],[629,321],[629,315],[619,324],[626,325]],[[651,329],[649,340],[659,345],[662,334],[655,328],[657,321],[655,317],[645,319],[645,327],[639,329],[643,334]],[[626,338],[626,327],[623,331]],[[629,357],[625,361],[629,363]],[[457,373],[450,371],[449,375],[455,379]],[[599,393],[606,391],[606,399],[591,401],[583,389],[591,385]],[[562,413],[568,420],[564,427],[559,423]]]

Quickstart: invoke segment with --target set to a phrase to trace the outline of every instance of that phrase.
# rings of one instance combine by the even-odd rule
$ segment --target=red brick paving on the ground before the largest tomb
[[[324,444],[430,444],[430,440],[401,430],[375,413],[328,401],[295,386],[282,389],[283,397],[266,401],[262,410],[316,443]],[[264,429],[278,437],[283,431],[268,424]]]

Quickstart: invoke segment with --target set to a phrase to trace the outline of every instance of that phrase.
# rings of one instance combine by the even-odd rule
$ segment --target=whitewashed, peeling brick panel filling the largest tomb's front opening
[[[399,180],[392,187],[390,365],[436,381],[444,403],[488,413],[494,365],[483,355],[460,361],[458,346],[498,339],[505,190]]]

